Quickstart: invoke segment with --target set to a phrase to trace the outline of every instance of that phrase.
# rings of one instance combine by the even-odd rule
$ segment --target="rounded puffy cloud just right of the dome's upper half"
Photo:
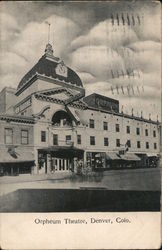
[[[89,72],[100,80],[112,77],[110,69],[124,68],[122,57],[103,45],[77,49],[71,55],[71,63],[77,70]]]

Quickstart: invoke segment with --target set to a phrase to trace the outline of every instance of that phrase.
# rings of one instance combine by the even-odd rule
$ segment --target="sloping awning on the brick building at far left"
[[[19,163],[34,161],[34,154],[21,148],[0,148],[0,163]]]

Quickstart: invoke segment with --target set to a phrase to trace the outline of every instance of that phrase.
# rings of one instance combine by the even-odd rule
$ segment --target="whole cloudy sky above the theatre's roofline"
[[[44,54],[80,76],[86,95],[118,99],[124,113],[161,116],[160,3],[152,1],[0,3],[0,91],[17,88]]]

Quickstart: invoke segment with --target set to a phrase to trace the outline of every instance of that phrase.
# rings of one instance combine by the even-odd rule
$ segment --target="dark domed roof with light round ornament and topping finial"
[[[79,76],[63,61],[53,55],[53,49],[47,44],[45,54],[39,59],[34,67],[21,79],[17,90],[24,86],[34,75],[40,74],[56,80],[71,83],[72,85],[83,87]]]

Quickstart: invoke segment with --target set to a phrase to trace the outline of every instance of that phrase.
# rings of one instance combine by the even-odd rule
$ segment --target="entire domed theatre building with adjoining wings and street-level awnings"
[[[155,167],[158,121],[119,112],[119,101],[91,94],[79,76],[53,54],[44,55],[17,89],[0,93],[1,175],[75,169]]]

